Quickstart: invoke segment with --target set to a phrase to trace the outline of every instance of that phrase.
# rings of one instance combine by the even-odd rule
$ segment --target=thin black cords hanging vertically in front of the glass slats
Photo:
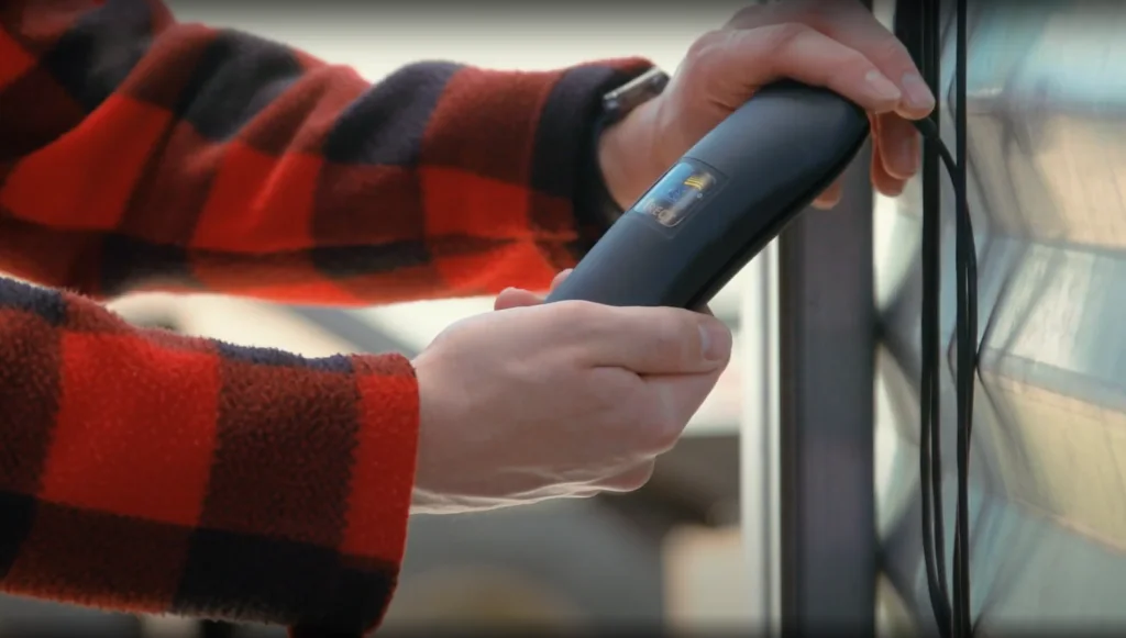
[[[966,77],[967,7],[956,6],[955,53],[955,142],[949,152],[939,134],[938,110],[917,123],[924,140],[922,167],[922,317],[920,372],[920,489],[922,493],[923,561],[935,621],[942,638],[969,638],[973,619],[969,606],[969,442],[973,433],[975,375],[977,371],[977,255],[967,198]],[[938,0],[919,2],[922,20],[919,62],[924,80],[936,95],[941,55],[941,7]],[[955,285],[957,393],[957,506],[954,534],[953,596],[947,587],[945,525],[942,522],[942,461],[939,419],[940,397],[940,303],[941,221],[938,162],[945,164],[955,194]]]

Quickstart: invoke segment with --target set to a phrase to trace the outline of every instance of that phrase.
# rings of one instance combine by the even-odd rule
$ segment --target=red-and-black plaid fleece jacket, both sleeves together
[[[543,288],[605,230],[573,204],[598,98],[646,68],[421,63],[372,86],[157,0],[0,2],[0,270],[52,287],[0,279],[0,590],[377,626],[410,362],[138,330],[90,298]]]

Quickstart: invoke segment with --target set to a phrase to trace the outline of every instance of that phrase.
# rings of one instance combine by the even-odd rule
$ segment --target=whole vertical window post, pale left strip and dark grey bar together
[[[766,635],[876,629],[873,194],[865,149],[833,210],[750,268],[742,512]]]

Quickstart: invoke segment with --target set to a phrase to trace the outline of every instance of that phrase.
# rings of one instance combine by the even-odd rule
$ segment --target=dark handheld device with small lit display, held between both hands
[[[706,304],[848,167],[867,114],[792,81],[763,87],[654,183],[547,302]]]

